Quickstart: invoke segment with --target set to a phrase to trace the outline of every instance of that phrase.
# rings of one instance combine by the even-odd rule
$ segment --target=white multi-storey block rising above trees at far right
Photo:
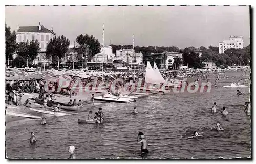
[[[244,41],[242,36],[230,36],[229,40],[224,40],[219,43],[219,53],[224,53],[225,50],[235,48],[235,49],[243,49]]]

